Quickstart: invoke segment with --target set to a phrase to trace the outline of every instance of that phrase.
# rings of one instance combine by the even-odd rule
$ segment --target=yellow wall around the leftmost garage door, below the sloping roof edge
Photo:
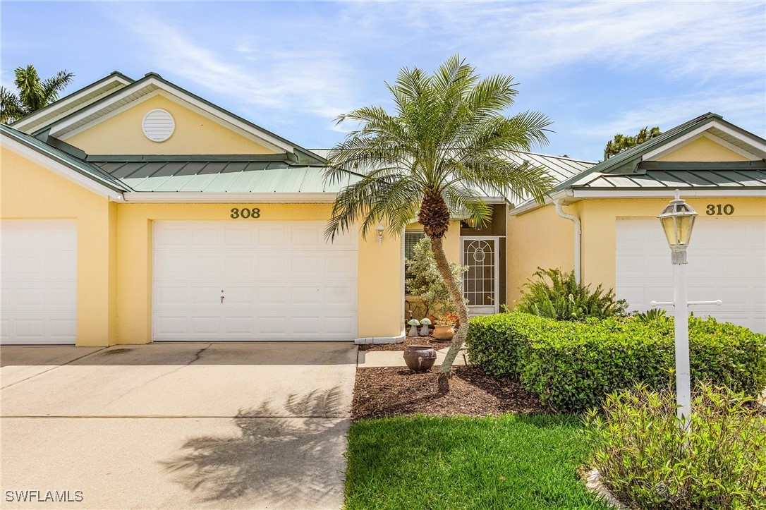
[[[2,219],[77,220],[77,345],[111,345],[116,323],[116,204],[0,149]]]

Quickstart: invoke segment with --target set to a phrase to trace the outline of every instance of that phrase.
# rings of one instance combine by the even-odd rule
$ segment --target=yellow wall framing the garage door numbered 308
[[[119,204],[117,343],[152,341],[152,221],[231,221],[231,208],[254,208],[263,220],[322,220],[330,204]],[[375,232],[358,246],[358,337],[401,334],[401,238]]]

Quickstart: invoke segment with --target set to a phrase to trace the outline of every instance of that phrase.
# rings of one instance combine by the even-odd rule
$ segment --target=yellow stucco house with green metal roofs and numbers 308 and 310
[[[348,340],[403,335],[404,257],[422,236],[326,243],[337,191],[326,151],[169,83],[113,73],[2,126],[2,343]],[[513,303],[538,266],[614,287],[630,309],[669,300],[655,220],[681,190],[698,314],[766,330],[766,141],[712,113],[606,162],[538,154],[545,204],[486,191],[493,221],[456,219],[474,313]]]

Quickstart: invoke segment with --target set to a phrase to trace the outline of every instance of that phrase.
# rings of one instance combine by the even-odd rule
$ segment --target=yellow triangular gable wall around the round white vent
[[[141,129],[149,110],[162,108],[175,120],[165,142],[152,142]],[[66,139],[87,154],[273,154],[263,145],[201,116],[165,96],[154,96]]]

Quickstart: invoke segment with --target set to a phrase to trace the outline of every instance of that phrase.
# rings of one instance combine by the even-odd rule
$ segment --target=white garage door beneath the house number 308
[[[154,340],[352,340],[355,234],[322,221],[155,221]]]

